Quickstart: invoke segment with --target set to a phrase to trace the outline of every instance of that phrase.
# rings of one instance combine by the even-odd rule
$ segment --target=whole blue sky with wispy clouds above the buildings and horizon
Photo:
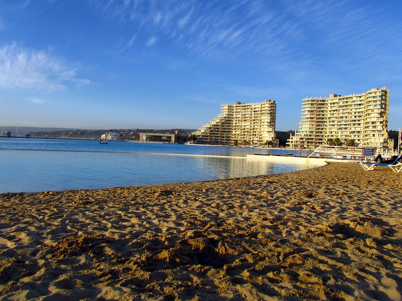
[[[198,128],[221,104],[386,86],[402,127],[402,2],[0,0],[5,125]]]

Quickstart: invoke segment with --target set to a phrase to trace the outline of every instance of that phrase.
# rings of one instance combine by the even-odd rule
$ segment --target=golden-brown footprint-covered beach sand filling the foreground
[[[2,300],[401,300],[402,174],[0,195]]]

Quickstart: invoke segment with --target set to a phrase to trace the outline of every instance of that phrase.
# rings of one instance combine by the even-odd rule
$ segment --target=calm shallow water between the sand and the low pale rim
[[[29,149],[0,152],[0,193],[209,181],[308,168],[244,157]]]

